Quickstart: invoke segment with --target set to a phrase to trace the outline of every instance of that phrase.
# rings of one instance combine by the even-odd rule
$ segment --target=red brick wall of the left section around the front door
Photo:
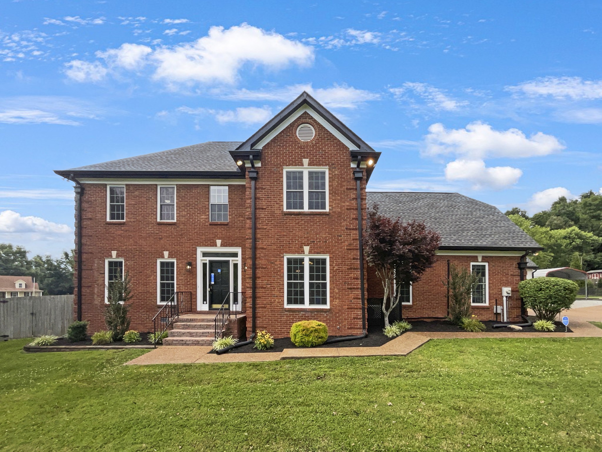
[[[126,184],[125,222],[116,223],[106,221],[107,186],[84,184],[82,318],[90,321],[89,330],[105,329],[105,258],[111,258],[111,251],[117,251],[117,258],[124,259],[125,271],[129,271],[133,295],[131,328],[140,331],[152,329],[151,319],[158,310],[157,259],[163,259],[163,251],[169,251],[169,258],[176,259],[176,290],[190,290],[193,307],[197,246],[216,246],[216,239],[222,240],[222,246],[240,246],[244,269],[244,193],[244,185],[229,185],[229,223],[210,224],[209,185],[177,184],[177,221],[158,223],[157,185]],[[185,271],[186,262],[193,263],[193,271]]]

